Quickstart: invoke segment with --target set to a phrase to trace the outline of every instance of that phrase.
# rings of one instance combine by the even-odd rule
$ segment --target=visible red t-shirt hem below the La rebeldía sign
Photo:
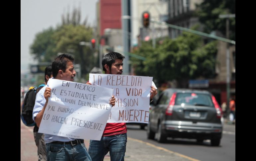
[[[118,135],[126,132],[126,123],[107,123],[102,136]]]

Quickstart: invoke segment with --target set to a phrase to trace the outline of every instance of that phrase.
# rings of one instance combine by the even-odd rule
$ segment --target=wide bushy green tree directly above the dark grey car
[[[161,41],[160,41],[161,42]],[[152,41],[143,42],[135,54],[146,60],[131,58],[136,75],[153,76],[158,84],[177,80],[186,88],[189,79],[215,76],[216,41],[206,45],[200,36],[183,32],[177,39],[165,39],[156,48]]]

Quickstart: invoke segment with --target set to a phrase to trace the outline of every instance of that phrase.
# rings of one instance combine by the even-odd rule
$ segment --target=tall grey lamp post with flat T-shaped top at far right
[[[229,39],[229,18],[235,17],[235,14],[225,14],[219,15],[219,18],[226,19],[226,39]],[[226,68],[227,68],[227,75],[226,75],[226,87],[227,87],[227,116],[229,117],[230,109],[229,109],[229,98],[230,98],[230,54],[229,54],[229,43],[227,43],[226,49]]]

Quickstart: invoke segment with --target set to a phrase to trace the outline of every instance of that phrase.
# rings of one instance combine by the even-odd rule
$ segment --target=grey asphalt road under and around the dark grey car
[[[220,146],[210,146],[210,140],[197,143],[195,139],[172,139],[167,143],[158,143],[147,139],[146,130],[140,130],[138,125],[127,125],[127,136],[154,144],[185,156],[201,161],[234,161],[235,160],[235,125],[224,124]]]

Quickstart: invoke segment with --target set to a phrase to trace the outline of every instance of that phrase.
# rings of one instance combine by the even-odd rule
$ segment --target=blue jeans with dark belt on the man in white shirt
[[[71,144],[46,144],[47,161],[91,161],[91,157],[84,143]]]

